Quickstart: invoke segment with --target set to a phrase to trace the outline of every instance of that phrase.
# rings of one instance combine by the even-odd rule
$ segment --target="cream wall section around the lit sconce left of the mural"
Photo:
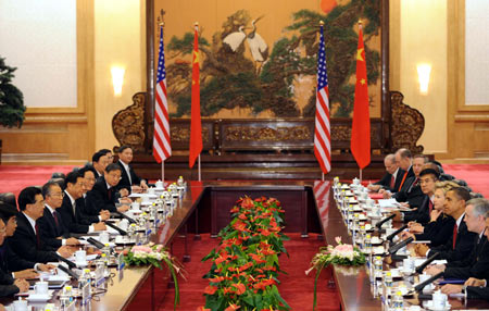
[[[113,115],[146,90],[145,0],[95,1],[96,149],[117,146]],[[121,96],[114,96],[111,66],[125,67]]]

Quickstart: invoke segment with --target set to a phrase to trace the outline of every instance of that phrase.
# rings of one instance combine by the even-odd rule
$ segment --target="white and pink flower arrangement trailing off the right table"
[[[319,252],[316,253],[311,261],[311,269],[305,271],[305,274],[309,274],[312,270],[316,270],[316,277],[314,279],[314,303],[313,310],[316,308],[317,302],[317,279],[319,278],[321,271],[324,268],[327,268],[329,264],[335,264],[338,266],[347,266],[347,265],[363,265],[365,263],[365,254],[363,252],[350,245],[342,244],[341,237],[335,238],[338,244],[336,247],[328,245],[327,247],[322,247]]]

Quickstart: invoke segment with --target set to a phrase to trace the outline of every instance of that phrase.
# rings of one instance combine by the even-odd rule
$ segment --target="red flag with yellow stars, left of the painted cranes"
[[[200,121],[200,53],[198,41],[198,26],[193,35],[193,61],[192,61],[192,108],[190,119],[190,154],[188,165],[191,169],[197,157],[202,151],[202,124]]]

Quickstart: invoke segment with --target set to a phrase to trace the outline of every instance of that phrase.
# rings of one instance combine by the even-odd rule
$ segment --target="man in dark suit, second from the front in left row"
[[[45,211],[45,199],[41,190],[36,187],[27,187],[18,195],[17,228],[10,238],[12,250],[21,258],[34,262],[58,261],[54,251],[46,250],[37,225],[37,220]],[[62,246],[57,251],[60,256],[68,258],[73,251]]]

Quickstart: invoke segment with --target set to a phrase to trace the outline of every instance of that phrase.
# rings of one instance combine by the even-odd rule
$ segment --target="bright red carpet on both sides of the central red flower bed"
[[[290,254],[280,257],[280,269],[287,274],[280,274],[281,284],[278,290],[281,297],[289,303],[291,310],[312,310],[314,273],[309,276],[304,271],[309,269],[312,257],[317,252],[324,241],[317,240],[316,235],[309,238],[301,238],[300,234],[288,234],[291,238],[285,241],[285,247]],[[205,286],[209,285],[208,279],[202,278],[210,266],[210,262],[201,262],[200,260],[206,256],[218,244],[217,239],[211,239],[209,235],[202,235],[202,240],[195,242],[191,249],[191,262],[186,263],[185,269],[188,272],[187,282],[180,282],[180,306],[177,310],[195,311],[199,306],[205,303],[202,295]],[[323,272],[321,282],[318,283],[319,295],[316,310],[339,310],[339,297],[336,289],[327,288],[330,277],[330,271]],[[163,303],[160,306],[161,311],[173,310],[174,291],[170,290]]]

